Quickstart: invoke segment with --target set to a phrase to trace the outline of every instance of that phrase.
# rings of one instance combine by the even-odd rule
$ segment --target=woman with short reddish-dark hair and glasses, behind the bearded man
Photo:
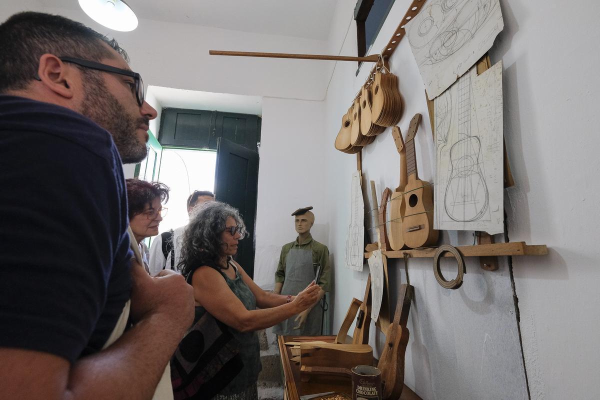
[[[144,266],[149,273],[148,246],[142,240],[158,234],[158,225],[167,212],[167,207],[163,207],[163,203],[169,201],[169,188],[160,182],[146,182],[141,179],[126,179],[125,183],[129,226],[133,236],[136,237]]]

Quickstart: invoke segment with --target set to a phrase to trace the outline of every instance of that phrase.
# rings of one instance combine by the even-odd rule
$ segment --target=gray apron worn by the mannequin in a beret
[[[287,296],[287,294],[296,296],[312,281],[314,281],[312,246],[310,249],[290,249],[286,258],[286,280],[283,281],[281,294],[284,296]],[[293,327],[298,325],[298,321],[294,321],[296,317],[297,315],[294,315],[278,323],[274,326],[273,332],[276,335],[316,336],[321,334],[322,309],[319,303],[310,311],[304,322],[304,326],[300,329],[293,329]]]

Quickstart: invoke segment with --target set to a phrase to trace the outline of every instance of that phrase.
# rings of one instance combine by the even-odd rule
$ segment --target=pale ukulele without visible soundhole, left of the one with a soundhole
[[[405,247],[404,244],[404,232],[403,232],[403,218],[406,210],[404,205],[404,187],[406,187],[407,176],[406,176],[406,149],[404,149],[404,140],[402,139],[402,133],[400,128],[394,127],[392,129],[392,137],[394,137],[394,143],[398,149],[400,155],[400,185],[392,193],[392,199],[389,201],[389,246],[392,250],[401,250]]]

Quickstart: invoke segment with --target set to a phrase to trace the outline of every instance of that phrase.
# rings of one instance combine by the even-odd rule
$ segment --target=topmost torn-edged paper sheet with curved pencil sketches
[[[494,44],[504,28],[499,0],[434,0],[405,26],[410,48],[433,99]]]

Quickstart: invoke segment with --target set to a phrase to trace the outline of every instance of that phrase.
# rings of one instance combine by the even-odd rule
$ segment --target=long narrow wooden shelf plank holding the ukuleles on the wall
[[[489,245],[475,246],[457,246],[458,251],[463,257],[481,257],[485,255],[546,255],[548,248],[546,245],[527,245],[525,242],[509,242],[509,243],[491,243]],[[429,247],[422,249],[386,251],[388,258],[403,258],[404,253],[407,253],[413,258],[433,258],[437,247]],[[365,253],[365,257],[370,257],[371,253]],[[442,257],[453,257],[449,253],[445,253]]]

